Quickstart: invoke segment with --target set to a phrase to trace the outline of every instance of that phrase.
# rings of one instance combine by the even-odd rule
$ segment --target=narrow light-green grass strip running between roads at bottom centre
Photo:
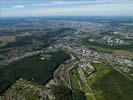
[[[95,100],[94,94],[92,93],[86,80],[80,80],[79,73],[76,68],[71,70],[70,78],[74,100]]]

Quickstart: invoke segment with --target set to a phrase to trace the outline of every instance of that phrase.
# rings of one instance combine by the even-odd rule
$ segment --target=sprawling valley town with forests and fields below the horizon
[[[1,16],[0,100],[133,100],[133,17]]]

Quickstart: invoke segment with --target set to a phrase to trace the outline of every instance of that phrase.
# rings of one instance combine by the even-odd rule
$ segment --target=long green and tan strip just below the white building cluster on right
[[[112,54],[116,54],[116,55],[120,55],[120,56],[123,56],[123,54],[121,52],[124,52],[125,56],[128,56],[129,54],[133,53],[132,42],[130,45],[111,46],[111,45],[106,45],[106,44],[89,42],[87,39],[84,39],[81,41],[81,45],[85,45],[86,47],[88,47],[92,50],[105,52],[105,53],[112,53]],[[120,51],[120,53],[118,53],[119,51]]]

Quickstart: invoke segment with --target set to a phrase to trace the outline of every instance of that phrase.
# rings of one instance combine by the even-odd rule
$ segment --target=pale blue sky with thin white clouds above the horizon
[[[133,0],[0,0],[0,17],[133,16]]]

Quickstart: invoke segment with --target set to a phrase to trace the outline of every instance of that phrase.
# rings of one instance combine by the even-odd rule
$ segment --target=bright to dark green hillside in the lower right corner
[[[97,100],[132,100],[133,81],[117,70],[97,64],[98,72],[89,79]]]

